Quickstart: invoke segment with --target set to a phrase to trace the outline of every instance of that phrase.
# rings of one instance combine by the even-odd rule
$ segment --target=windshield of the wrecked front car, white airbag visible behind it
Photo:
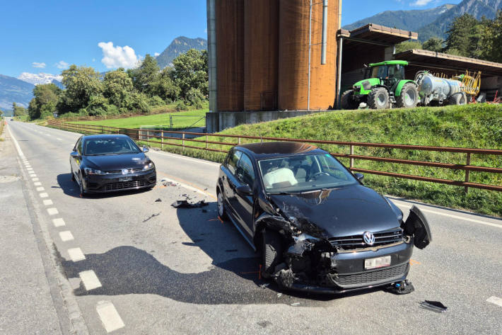
[[[356,184],[330,154],[305,154],[259,161],[267,193],[305,192]]]

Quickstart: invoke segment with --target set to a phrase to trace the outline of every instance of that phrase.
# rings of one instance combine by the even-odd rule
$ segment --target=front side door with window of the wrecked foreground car
[[[238,186],[249,186],[251,190],[255,187],[255,168],[252,164],[252,160],[247,154],[243,153],[237,164],[237,181]],[[254,195],[240,194],[235,192],[235,212],[240,220],[240,225],[243,226],[247,234],[253,237],[253,222],[252,222],[252,211],[254,205]]]

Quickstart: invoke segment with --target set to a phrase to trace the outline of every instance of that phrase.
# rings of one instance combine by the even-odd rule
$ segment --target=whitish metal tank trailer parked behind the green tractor
[[[421,71],[415,75],[415,82],[419,86],[420,104],[427,106],[431,101],[448,101],[452,105],[465,105],[467,96],[462,89],[462,81],[445,79]]]

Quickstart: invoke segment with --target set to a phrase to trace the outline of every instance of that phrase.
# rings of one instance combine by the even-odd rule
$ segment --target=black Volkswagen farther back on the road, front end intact
[[[155,164],[127,135],[82,136],[70,154],[81,196],[156,186]]]

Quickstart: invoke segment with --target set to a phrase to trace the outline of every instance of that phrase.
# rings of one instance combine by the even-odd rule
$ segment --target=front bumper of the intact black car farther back
[[[83,188],[86,193],[107,193],[137,190],[156,186],[156,169],[139,171],[134,174],[105,174],[83,177]]]

